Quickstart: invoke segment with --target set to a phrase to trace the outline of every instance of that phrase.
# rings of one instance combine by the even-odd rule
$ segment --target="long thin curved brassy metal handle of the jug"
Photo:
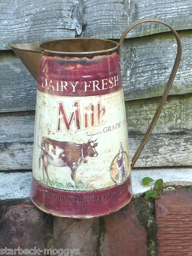
[[[177,40],[177,56],[176,56],[176,59],[175,59],[175,63],[174,63],[174,66],[173,66],[173,69],[172,69],[172,72],[169,76],[169,79],[168,79],[168,82],[167,82],[167,85],[166,85],[166,88],[164,90],[164,93],[161,97],[161,100],[159,102],[159,105],[157,107],[157,110],[155,112],[155,115],[150,123],[150,126],[148,126],[148,129],[146,131],[146,133],[144,134],[144,137],[143,139],[141,140],[140,142],[140,145],[139,147],[137,148],[137,151],[135,152],[135,155],[133,156],[132,158],[132,163],[131,163],[131,169],[134,167],[135,165],[135,162],[137,161],[138,157],[140,156],[148,138],[150,137],[153,129],[154,129],[154,126],[157,122],[157,119],[159,118],[159,115],[163,109],[163,106],[165,104],[165,101],[167,99],[167,96],[168,96],[168,93],[170,91],[170,88],[172,87],[172,84],[173,84],[173,81],[174,81],[174,78],[176,76],[176,73],[177,73],[177,70],[178,70],[178,67],[179,67],[179,63],[180,63],[180,60],[181,60],[181,55],[182,55],[182,46],[181,46],[181,40],[180,40],[180,37],[178,35],[178,33],[172,28],[170,27],[167,23],[163,22],[162,20],[160,19],[156,19],[156,18],[143,18],[143,19],[140,19],[140,20],[137,20],[136,22],[132,23],[129,27],[127,27],[125,29],[125,31],[123,32],[121,38],[120,38],[120,41],[119,41],[119,58],[120,58],[120,55],[121,55],[121,49],[122,49],[122,44],[123,44],[123,40],[125,38],[125,36],[127,35],[127,33],[129,33],[129,31],[134,28],[135,26],[141,24],[141,23],[145,23],[145,22],[157,22],[157,23],[161,23],[165,26],[167,26],[172,32],[173,34],[175,35],[176,37],[176,40]]]

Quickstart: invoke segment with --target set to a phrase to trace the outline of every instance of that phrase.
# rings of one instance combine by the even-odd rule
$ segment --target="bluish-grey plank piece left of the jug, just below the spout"
[[[0,52],[0,112],[34,110],[36,81],[12,51]]]

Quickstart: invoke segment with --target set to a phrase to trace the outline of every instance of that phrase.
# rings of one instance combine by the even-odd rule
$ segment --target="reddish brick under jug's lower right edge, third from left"
[[[104,256],[145,256],[146,231],[140,227],[135,206],[129,203],[123,209],[104,217]]]

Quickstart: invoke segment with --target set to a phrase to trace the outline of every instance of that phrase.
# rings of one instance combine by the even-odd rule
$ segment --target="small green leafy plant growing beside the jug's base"
[[[158,179],[155,181],[154,186],[153,186],[153,182],[154,179],[150,178],[150,177],[144,177],[142,179],[142,184],[144,186],[151,186],[151,189],[145,191],[145,197],[146,199],[148,198],[159,198],[159,193],[161,192],[161,187],[163,186],[163,180],[162,179]]]

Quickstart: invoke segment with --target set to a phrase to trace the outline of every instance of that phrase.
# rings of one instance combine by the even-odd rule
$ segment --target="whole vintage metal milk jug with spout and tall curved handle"
[[[158,22],[175,35],[174,68],[133,159],[127,138],[120,54],[126,34]],[[60,217],[108,215],[132,198],[131,169],[163,108],[181,58],[177,32],[158,19],[141,19],[112,40],[69,38],[12,44],[37,80],[31,200]]]

